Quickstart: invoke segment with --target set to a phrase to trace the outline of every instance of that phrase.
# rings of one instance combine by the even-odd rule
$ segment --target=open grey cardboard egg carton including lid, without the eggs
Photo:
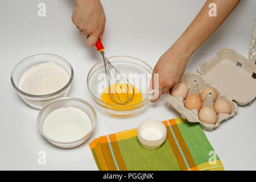
[[[222,121],[236,114],[237,104],[250,104],[256,96],[256,79],[252,77],[253,72],[256,72],[256,65],[232,48],[221,48],[216,56],[199,65],[198,72],[185,73],[181,78],[181,82],[188,85],[188,95],[195,92],[190,89],[193,88],[192,84],[195,80],[200,93],[205,87],[212,86],[217,92],[217,100],[225,99],[229,102],[232,107],[230,114],[218,114],[216,124],[212,125],[200,121],[198,110],[186,109],[182,97],[172,97],[168,93],[164,100],[167,105],[174,107],[182,118],[189,122],[199,122],[205,130],[219,126]]]

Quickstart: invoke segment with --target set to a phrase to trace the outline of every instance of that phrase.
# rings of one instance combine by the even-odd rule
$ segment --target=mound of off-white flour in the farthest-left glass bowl
[[[19,89],[29,94],[45,95],[60,90],[68,81],[68,74],[62,67],[48,62],[24,72],[19,81]]]

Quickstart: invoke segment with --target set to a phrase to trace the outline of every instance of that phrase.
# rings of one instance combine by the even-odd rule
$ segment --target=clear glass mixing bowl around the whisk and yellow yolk
[[[131,84],[142,93],[142,101],[133,105],[112,105],[101,100],[104,89],[108,88],[105,80],[104,62],[101,60],[90,69],[87,76],[87,87],[92,99],[100,109],[115,116],[128,116],[139,113],[150,101],[148,96],[148,86],[152,74],[150,65],[142,60],[130,56],[113,56],[108,60],[123,75],[129,78]],[[114,107],[114,108],[113,108]]]

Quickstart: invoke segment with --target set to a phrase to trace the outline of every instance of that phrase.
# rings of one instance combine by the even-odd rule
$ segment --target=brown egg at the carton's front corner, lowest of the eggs
[[[217,121],[217,114],[212,109],[211,107],[204,106],[200,111],[199,111],[199,119],[201,122],[208,123],[208,124],[213,124],[215,125]]]

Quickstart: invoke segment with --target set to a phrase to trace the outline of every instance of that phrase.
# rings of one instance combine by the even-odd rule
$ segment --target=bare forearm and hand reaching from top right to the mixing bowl
[[[183,32],[174,45],[165,52],[155,65],[150,82],[150,90],[155,89],[157,81],[159,88],[154,90],[155,102],[161,94],[167,93],[169,89],[180,81],[184,74],[187,61],[193,52],[209,38],[210,35],[221,25],[222,22],[233,11],[241,0],[207,0],[203,8],[197,14],[193,22]],[[217,5],[218,16],[209,16],[209,4]],[[159,79],[154,81],[154,73],[159,73]],[[159,92],[155,92],[158,91]]]

